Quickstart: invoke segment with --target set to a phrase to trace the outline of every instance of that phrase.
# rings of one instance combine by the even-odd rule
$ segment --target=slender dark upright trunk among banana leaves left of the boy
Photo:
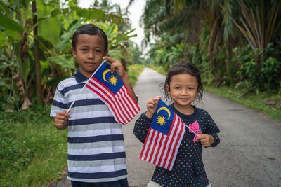
[[[32,13],[34,15],[33,17],[33,25],[37,24],[37,6],[36,1],[32,1]],[[33,56],[34,56],[34,69],[35,69],[35,90],[36,90],[36,101],[37,103],[41,103],[42,100],[42,94],[41,94],[41,66],[40,66],[40,56],[39,56],[39,43],[37,41],[38,36],[38,28],[37,26],[34,27],[34,50],[33,50]]]

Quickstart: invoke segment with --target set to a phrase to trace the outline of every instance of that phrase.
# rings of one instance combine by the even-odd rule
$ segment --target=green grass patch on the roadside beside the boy
[[[67,130],[50,108],[0,113],[0,186],[48,186],[67,165]]]

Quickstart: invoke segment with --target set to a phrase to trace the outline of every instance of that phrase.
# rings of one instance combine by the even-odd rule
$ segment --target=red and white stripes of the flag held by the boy
[[[138,111],[141,110],[135,100],[129,95],[125,85],[114,94],[101,81],[98,81],[97,78],[91,76],[86,87],[95,92],[100,99],[105,102],[115,117],[115,120],[122,125],[129,123],[133,117],[136,116]]]

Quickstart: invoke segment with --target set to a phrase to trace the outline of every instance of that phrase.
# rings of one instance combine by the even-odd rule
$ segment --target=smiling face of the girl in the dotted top
[[[178,111],[192,109],[191,103],[197,97],[198,83],[195,76],[178,74],[171,76],[170,85],[166,86],[174,106]]]

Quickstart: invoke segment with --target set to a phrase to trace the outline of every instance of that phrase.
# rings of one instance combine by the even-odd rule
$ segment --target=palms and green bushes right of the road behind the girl
[[[146,1],[150,64],[181,59],[207,83],[276,95],[281,87],[281,1]],[[150,39],[153,42],[150,42]]]

